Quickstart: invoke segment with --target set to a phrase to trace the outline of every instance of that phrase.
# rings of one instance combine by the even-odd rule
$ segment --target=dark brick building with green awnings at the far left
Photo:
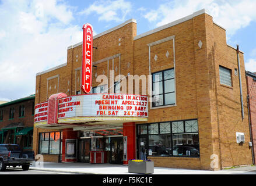
[[[19,144],[31,150],[34,126],[34,95],[0,105],[0,143]]]

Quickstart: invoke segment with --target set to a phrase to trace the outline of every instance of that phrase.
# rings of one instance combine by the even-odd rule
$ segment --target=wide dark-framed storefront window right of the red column
[[[142,142],[143,141],[143,142]],[[139,157],[199,157],[198,121],[170,121],[138,125]],[[144,149],[148,149],[145,152]]]

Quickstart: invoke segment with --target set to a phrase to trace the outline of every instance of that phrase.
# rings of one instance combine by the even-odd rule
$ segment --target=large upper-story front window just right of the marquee
[[[152,73],[153,107],[176,104],[174,69]]]

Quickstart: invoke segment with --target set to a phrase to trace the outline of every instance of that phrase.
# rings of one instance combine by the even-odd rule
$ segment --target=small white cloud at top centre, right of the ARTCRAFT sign
[[[132,5],[131,2],[125,0],[115,0],[115,1],[96,1],[89,8],[86,8],[80,15],[90,15],[93,12],[97,13],[99,20],[104,20],[110,22],[114,20],[115,22],[124,22],[126,16],[131,12]]]

